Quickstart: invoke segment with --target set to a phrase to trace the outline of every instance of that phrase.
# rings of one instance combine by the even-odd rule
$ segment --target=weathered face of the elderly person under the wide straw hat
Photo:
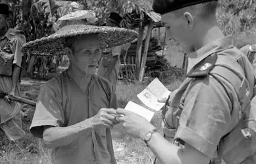
[[[94,74],[101,58],[97,34],[75,37],[72,44],[73,55],[70,64],[82,73]]]

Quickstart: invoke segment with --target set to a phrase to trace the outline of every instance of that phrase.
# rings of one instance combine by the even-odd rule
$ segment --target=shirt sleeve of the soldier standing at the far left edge
[[[13,64],[16,64],[17,66],[21,67],[21,63],[22,63],[22,45],[24,43],[26,43],[26,39],[24,39],[24,37],[20,37],[20,39],[13,39],[12,41],[12,50],[13,50],[13,54],[14,54],[14,60],[13,60]]]

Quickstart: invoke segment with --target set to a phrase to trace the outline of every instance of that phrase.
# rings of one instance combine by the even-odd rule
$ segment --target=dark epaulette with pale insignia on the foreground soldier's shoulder
[[[207,58],[196,64],[192,70],[188,73],[187,77],[203,77],[209,74],[213,70],[217,61],[217,53],[209,55]]]

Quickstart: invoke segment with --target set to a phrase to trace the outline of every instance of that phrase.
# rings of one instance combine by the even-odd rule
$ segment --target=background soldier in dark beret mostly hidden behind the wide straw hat
[[[120,22],[122,17],[116,12],[111,12],[109,19],[107,20],[107,26],[120,28]],[[103,56],[99,64],[98,75],[108,79],[114,89],[116,89],[116,81],[118,78],[118,73],[120,69],[120,54],[122,49],[127,51],[130,47],[130,43],[124,45],[116,46],[110,49],[105,49],[103,51]]]

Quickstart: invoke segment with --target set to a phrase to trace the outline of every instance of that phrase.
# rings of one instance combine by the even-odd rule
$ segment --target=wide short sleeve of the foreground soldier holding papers
[[[186,95],[174,139],[182,140],[210,159],[232,123],[232,104],[213,77],[195,79]]]

